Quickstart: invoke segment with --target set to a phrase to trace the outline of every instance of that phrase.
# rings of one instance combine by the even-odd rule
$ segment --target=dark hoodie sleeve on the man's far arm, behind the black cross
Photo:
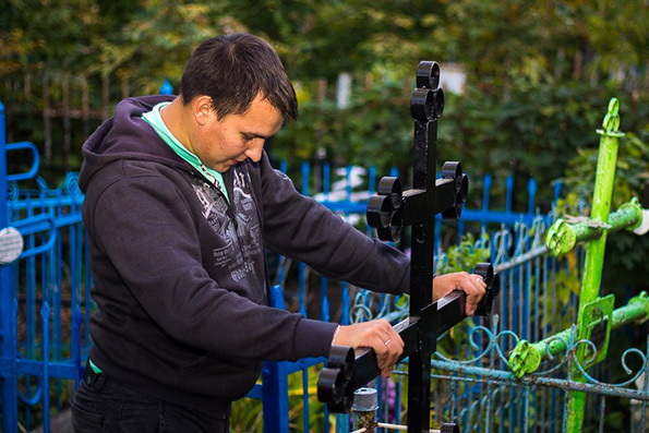
[[[408,256],[300,194],[265,154],[260,171],[264,231],[272,249],[333,279],[395,294],[409,291]]]

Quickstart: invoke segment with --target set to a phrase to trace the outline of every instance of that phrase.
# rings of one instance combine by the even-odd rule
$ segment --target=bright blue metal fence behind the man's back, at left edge
[[[68,406],[73,387],[67,384],[79,381],[89,342],[87,330],[82,332],[84,312],[91,308],[91,285],[84,278],[83,196],[73,175],[57,189],[36,178],[36,147],[5,145],[3,113],[0,107],[0,227],[17,229],[23,248],[17,260],[0,266],[2,431],[16,431],[19,410],[24,429],[43,420],[49,431],[50,405]],[[7,173],[7,156],[25,151],[32,156],[29,168]],[[37,189],[19,188],[25,181],[36,182]],[[15,244],[1,238],[0,248]]]

